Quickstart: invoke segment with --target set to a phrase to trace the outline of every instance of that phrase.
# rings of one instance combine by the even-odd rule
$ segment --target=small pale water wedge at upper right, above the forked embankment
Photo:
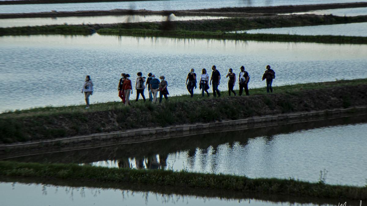
[[[367,15],[367,7],[316,10],[308,12],[296,12],[292,14],[319,14],[319,15],[332,14],[334,16],[359,16],[359,15]]]

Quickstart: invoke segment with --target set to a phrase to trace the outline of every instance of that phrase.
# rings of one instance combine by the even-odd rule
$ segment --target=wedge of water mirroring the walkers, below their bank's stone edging
[[[367,115],[11,158],[366,184]],[[322,172],[320,172],[322,171]]]

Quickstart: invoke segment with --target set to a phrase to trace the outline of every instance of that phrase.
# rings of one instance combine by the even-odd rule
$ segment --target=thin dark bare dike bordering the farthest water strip
[[[1,4],[1,1],[0,1]],[[313,10],[326,10],[338,8],[359,8],[367,7],[367,2],[358,3],[335,3],[335,4],[310,4],[310,5],[283,5],[274,7],[233,7],[233,8],[210,8],[201,10],[101,10],[101,11],[50,11],[36,13],[12,13],[0,14],[0,19],[9,18],[41,18],[41,17],[66,17],[66,16],[108,16],[108,15],[170,15],[176,16],[263,16],[287,14],[292,12],[306,12]]]

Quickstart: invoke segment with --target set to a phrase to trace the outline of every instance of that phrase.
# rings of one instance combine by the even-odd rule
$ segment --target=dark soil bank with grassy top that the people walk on
[[[357,85],[200,101],[171,99],[160,105],[138,103],[108,111],[5,115],[0,118],[0,143],[362,106],[367,102],[366,91],[367,85]]]

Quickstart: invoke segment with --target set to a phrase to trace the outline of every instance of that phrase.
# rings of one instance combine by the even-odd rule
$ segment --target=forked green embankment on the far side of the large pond
[[[270,27],[327,25],[336,23],[366,22],[366,16],[287,15],[257,16],[199,21],[139,22],[109,25],[58,25],[0,28],[0,36],[30,34],[99,34],[128,36],[164,36],[180,38],[219,38],[259,41],[304,41],[317,43],[367,43],[367,37],[302,36],[287,34],[240,34],[225,31],[249,30]]]

